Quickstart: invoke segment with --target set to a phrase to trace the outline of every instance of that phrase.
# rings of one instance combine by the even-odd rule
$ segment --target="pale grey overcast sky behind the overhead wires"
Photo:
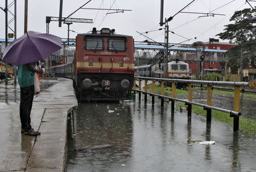
[[[9,3],[11,0],[9,0]],[[63,16],[68,16],[88,0],[63,0]],[[169,18],[188,5],[192,0],[164,0],[164,18]],[[229,3],[231,2],[231,3]],[[59,0],[28,0],[28,31],[46,32],[46,16],[59,16]],[[221,7],[222,5],[228,5]],[[255,6],[255,2],[250,2]],[[18,37],[23,35],[24,30],[24,0],[17,1],[17,34]],[[0,2],[0,7],[5,7],[5,1]],[[147,38],[139,35],[138,32],[146,32],[164,28],[159,26],[160,21],[160,0],[92,0],[87,8],[105,8],[109,9],[126,9],[124,13],[108,14],[107,10],[79,10],[73,14],[72,18],[93,19],[90,23],[73,23],[70,29],[78,33],[86,33],[96,27],[100,30],[102,27],[114,28],[116,33],[132,35],[135,41],[143,41]],[[217,9],[221,7],[220,9]],[[214,17],[201,17],[200,14],[182,14],[179,13],[169,22],[170,30],[183,36],[177,36],[170,33],[170,43],[179,43],[186,40],[184,37],[191,39],[185,43],[191,44],[194,41],[208,41],[209,37],[218,39],[215,35],[224,29],[225,24],[229,24],[229,18],[234,11],[250,8],[245,0],[196,0],[183,11],[189,12],[211,12],[217,14]],[[9,15],[9,19],[12,16]],[[5,13],[0,12],[0,38],[5,38]],[[194,20],[193,22],[190,22]],[[186,24],[187,23],[187,24]],[[183,25],[184,24],[184,25]],[[182,26],[183,25],[183,26]],[[9,32],[11,32],[9,30]],[[58,22],[49,24],[49,33],[60,37],[67,38],[67,24],[58,27]],[[77,33],[70,32],[70,38],[75,38]],[[154,31],[145,34],[155,41],[164,42],[164,30]],[[197,39],[195,40],[195,37]],[[225,40],[227,42],[227,40]]]

